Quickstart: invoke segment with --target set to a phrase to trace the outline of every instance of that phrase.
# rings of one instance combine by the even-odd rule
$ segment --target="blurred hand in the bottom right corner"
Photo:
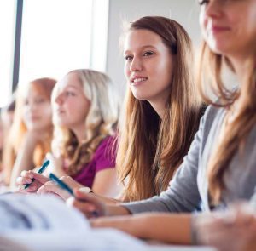
[[[218,250],[247,250],[256,239],[256,217],[244,204],[235,205],[227,212],[203,214],[195,219],[197,239]]]

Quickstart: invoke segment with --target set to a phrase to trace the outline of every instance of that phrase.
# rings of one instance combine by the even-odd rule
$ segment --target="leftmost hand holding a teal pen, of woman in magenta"
[[[32,182],[32,179],[35,180]],[[43,174],[38,174],[33,171],[22,171],[20,177],[16,180],[16,184],[19,185],[18,191],[26,193],[38,191],[38,188],[48,181],[49,178],[45,177]],[[31,183],[32,185],[25,189],[25,185]]]

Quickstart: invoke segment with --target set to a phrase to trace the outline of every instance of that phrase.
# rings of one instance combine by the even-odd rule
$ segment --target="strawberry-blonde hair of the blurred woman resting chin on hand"
[[[27,88],[32,88],[38,94],[43,95],[46,100],[50,102],[50,95],[55,86],[55,79],[43,77],[34,79],[29,83],[20,83],[16,92],[15,98],[15,113],[14,121],[9,130],[8,139],[3,149],[3,170],[5,176],[5,183],[9,184],[15,158],[20,150],[27,128],[23,120],[23,108],[25,104],[24,91]],[[34,166],[42,165],[45,154],[50,150],[50,143],[52,140],[52,128],[49,128],[49,138],[44,142],[39,142],[33,152]]]

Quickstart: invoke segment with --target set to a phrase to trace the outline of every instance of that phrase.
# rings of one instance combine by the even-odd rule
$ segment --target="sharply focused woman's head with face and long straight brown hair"
[[[128,89],[117,156],[123,201],[165,191],[189,150],[201,117],[192,54],[189,35],[174,20],[143,17],[126,31]]]

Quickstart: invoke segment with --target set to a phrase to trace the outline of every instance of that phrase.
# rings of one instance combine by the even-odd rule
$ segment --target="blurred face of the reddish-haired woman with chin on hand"
[[[48,130],[52,126],[50,101],[34,88],[26,92],[23,121],[28,130]]]

